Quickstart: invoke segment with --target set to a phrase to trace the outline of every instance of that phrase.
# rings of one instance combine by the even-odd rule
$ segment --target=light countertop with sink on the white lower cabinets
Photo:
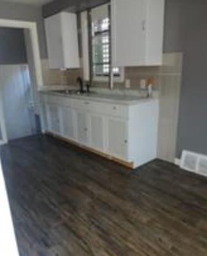
[[[120,105],[137,105],[147,101],[156,100],[157,98],[143,98],[141,96],[129,96],[129,95],[116,95],[116,94],[102,94],[102,93],[90,93],[90,94],[66,94],[56,91],[40,91],[40,93],[50,94],[54,96],[61,96],[73,99],[83,99],[98,102],[108,102]]]

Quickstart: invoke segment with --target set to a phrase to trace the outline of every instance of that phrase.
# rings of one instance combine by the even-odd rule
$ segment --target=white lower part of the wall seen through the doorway
[[[27,65],[0,66],[1,99],[8,139],[35,133],[35,113],[30,106],[32,90]]]

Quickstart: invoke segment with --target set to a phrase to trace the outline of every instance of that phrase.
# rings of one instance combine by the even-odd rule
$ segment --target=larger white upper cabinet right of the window
[[[165,0],[111,0],[114,67],[162,65]]]

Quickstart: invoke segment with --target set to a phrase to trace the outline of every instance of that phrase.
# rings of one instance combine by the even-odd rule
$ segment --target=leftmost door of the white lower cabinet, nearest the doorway
[[[61,134],[61,107],[48,105],[49,113],[49,131],[55,134]]]

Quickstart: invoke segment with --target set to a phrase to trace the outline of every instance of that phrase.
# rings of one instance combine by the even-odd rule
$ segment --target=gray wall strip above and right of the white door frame
[[[42,8],[28,4],[1,1],[0,18],[37,22],[41,58],[47,57]]]

